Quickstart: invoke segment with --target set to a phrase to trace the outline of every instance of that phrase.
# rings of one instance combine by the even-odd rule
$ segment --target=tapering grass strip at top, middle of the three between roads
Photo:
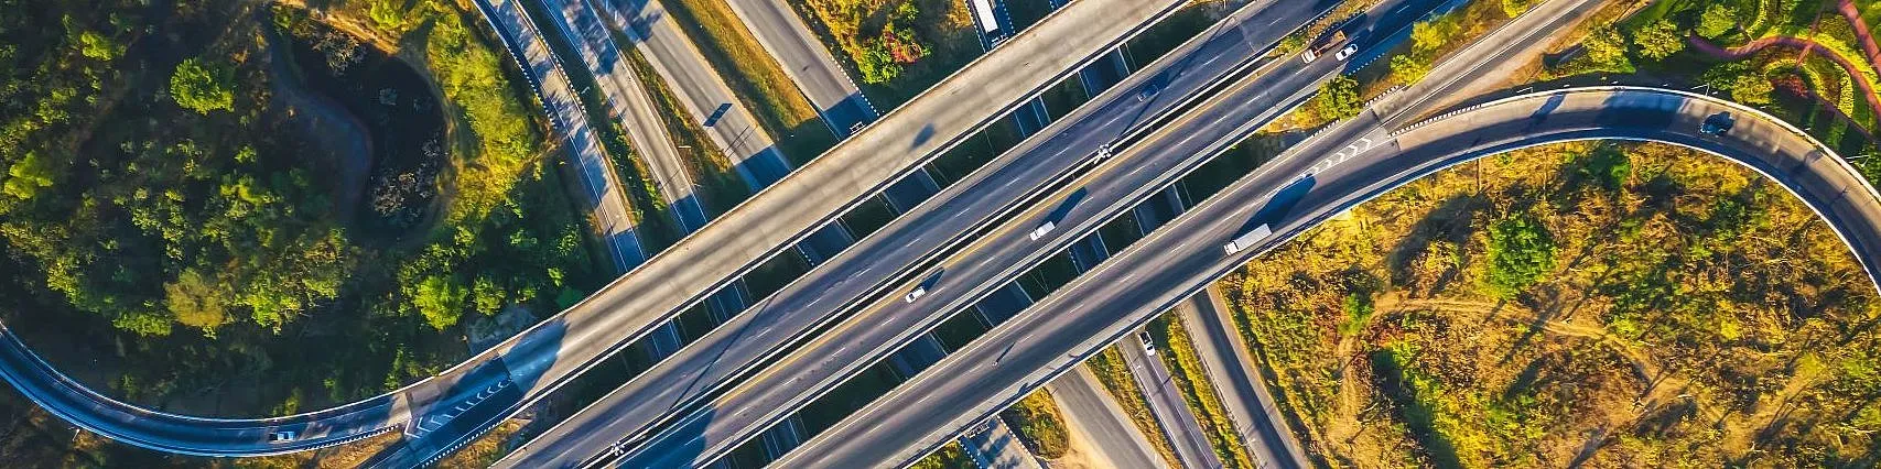
[[[705,216],[724,214],[749,199],[752,193],[751,186],[745,186],[745,180],[737,176],[724,150],[705,137],[705,129],[698,122],[692,122],[685,107],[679,105],[679,98],[673,96],[673,90],[666,88],[666,79],[660,79],[660,73],[653,71],[647,56],[640,49],[632,49],[626,53],[626,62],[632,64],[634,73],[640,73],[640,83],[653,96],[653,105],[658,107],[660,118],[666,120],[666,135],[673,137],[673,146],[687,159],[687,173],[705,191],[694,193],[700,197],[700,206],[707,212]]]

